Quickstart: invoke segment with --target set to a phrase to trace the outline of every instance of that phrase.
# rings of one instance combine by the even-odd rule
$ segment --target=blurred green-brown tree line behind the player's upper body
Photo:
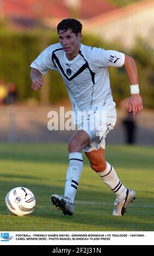
[[[35,99],[42,103],[54,103],[68,97],[63,80],[56,71],[50,71],[44,76],[44,88],[39,92],[31,89],[30,63],[44,48],[58,42],[56,31],[0,32],[0,79],[6,83],[16,84],[19,102]],[[130,50],[126,50],[118,42],[108,44],[96,36],[84,34],[82,43],[106,50],[117,50],[134,57],[144,106],[153,108],[154,55],[148,41],[139,38]],[[122,99],[130,95],[130,82],[124,68],[109,68],[109,73],[114,101],[118,105]]]

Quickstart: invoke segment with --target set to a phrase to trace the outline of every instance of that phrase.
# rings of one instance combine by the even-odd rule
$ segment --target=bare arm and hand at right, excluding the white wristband
[[[126,69],[128,78],[130,80],[130,84],[133,86],[138,84],[138,71],[135,61],[132,57],[125,55],[125,63],[124,67]],[[135,114],[141,110],[143,110],[143,103],[141,96],[139,94],[132,94],[130,101],[128,102],[129,112],[132,111],[133,117]]]

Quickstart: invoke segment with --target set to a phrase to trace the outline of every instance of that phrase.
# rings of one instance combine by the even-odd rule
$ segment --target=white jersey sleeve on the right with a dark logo
[[[124,65],[125,54],[113,50],[104,50],[102,48],[91,49],[91,59],[97,66],[116,66],[120,67]]]

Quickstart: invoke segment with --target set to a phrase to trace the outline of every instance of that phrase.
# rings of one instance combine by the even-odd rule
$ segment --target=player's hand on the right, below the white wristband
[[[135,117],[135,114],[143,110],[143,103],[141,96],[139,94],[132,94],[129,102],[128,102],[128,111],[133,114],[133,117]]]

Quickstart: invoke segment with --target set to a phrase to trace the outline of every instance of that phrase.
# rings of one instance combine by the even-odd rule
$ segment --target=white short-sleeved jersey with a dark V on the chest
[[[69,61],[58,43],[47,47],[30,66],[42,75],[47,70],[57,70],[63,77],[73,111],[77,112],[115,106],[107,67],[120,67],[124,61],[124,53],[83,44],[78,55]]]

